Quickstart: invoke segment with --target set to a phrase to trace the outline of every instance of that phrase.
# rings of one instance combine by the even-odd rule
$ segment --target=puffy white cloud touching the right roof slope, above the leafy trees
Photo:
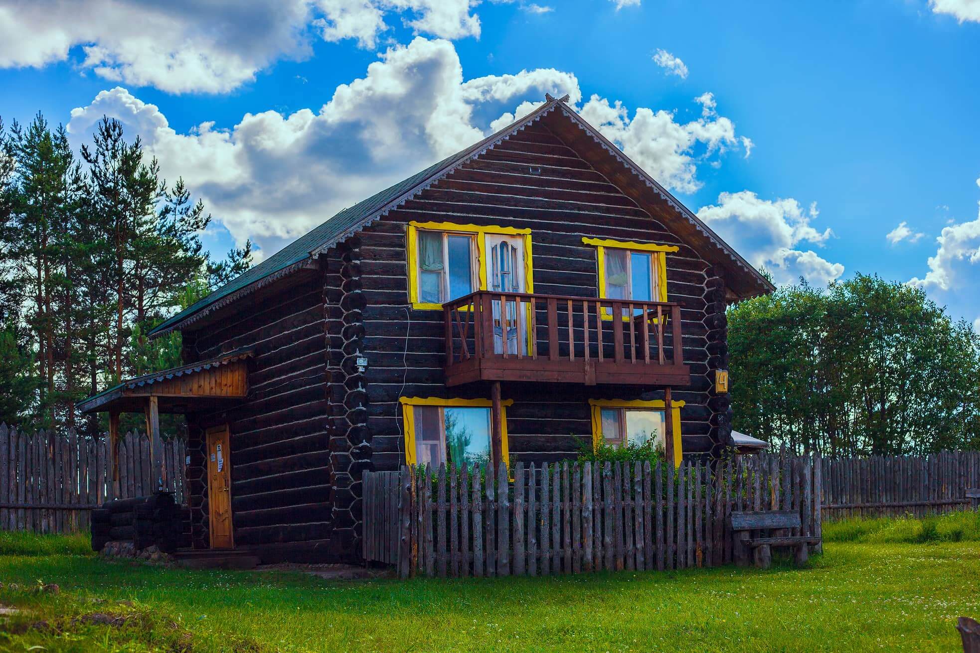
[[[829,228],[818,231],[810,224],[818,214],[815,203],[806,209],[792,198],[762,200],[752,191],[721,193],[716,205],[698,210],[698,217],[777,283],[803,276],[824,285],[844,274],[844,265],[800,247],[822,247],[833,236]]]

